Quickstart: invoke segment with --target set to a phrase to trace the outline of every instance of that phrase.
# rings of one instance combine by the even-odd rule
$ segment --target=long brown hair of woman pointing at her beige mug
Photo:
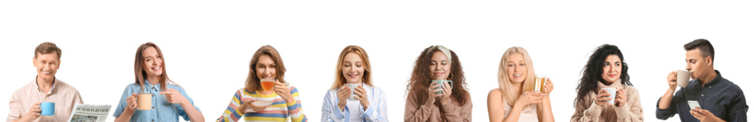
[[[165,72],[167,69],[167,66],[165,66],[165,56],[162,54],[162,50],[160,50],[160,47],[157,46],[157,44],[154,44],[152,42],[147,42],[145,44],[141,44],[138,49],[136,49],[136,58],[133,61],[133,73],[136,75],[136,84],[141,85],[140,92],[143,92],[144,90],[144,78],[146,78],[146,71],[144,71],[144,56],[143,52],[146,50],[146,48],[149,47],[155,47],[155,50],[157,50],[157,53],[160,54],[160,59],[162,60],[162,75],[160,75],[160,90],[164,91],[165,87],[167,86],[167,81],[170,81],[171,84],[176,84],[170,78],[167,78],[167,72]],[[178,84],[176,84],[177,86]]]

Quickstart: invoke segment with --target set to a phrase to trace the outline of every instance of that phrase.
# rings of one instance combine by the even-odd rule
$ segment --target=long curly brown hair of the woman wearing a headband
[[[411,72],[411,79],[409,79],[409,84],[406,85],[406,91],[408,91],[409,93],[414,93],[414,96],[417,96],[417,105],[423,105],[429,98],[428,90],[430,81],[432,81],[429,66],[432,60],[432,55],[434,53],[428,52],[440,51],[440,49],[433,47],[434,46],[425,48],[424,51],[421,51],[421,54],[418,56],[418,58],[416,58],[413,72]],[[469,98],[469,96],[466,96],[468,94],[468,91],[464,87],[466,85],[466,78],[464,78],[464,72],[461,67],[461,62],[458,61],[458,56],[455,55],[455,52],[453,52],[453,50],[449,51],[452,58],[450,58],[451,68],[448,78],[449,80],[453,81],[452,94],[450,96],[453,100],[463,105],[466,104]]]

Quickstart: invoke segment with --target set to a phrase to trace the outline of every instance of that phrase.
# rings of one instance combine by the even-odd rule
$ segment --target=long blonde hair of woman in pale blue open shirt
[[[348,47],[345,47],[341,52],[340,56],[338,56],[338,66],[336,66],[336,72],[335,72],[335,82],[333,83],[333,87],[330,87],[330,89],[337,90],[339,87],[343,86],[345,84],[345,76],[343,76],[343,59],[345,58],[345,54],[348,53],[356,53],[361,58],[361,63],[364,64],[364,73],[363,77],[361,77],[361,81],[364,84],[368,84],[369,86],[372,85],[372,64],[369,63],[369,56],[366,55],[366,51],[364,51],[363,48],[351,45]]]

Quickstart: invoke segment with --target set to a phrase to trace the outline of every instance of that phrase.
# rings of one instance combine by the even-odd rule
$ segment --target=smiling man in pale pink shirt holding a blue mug
[[[34,50],[34,81],[13,93],[8,121],[68,121],[76,103],[84,103],[78,90],[55,78],[60,68],[60,48],[44,42]],[[54,114],[41,117],[41,102],[54,102]]]

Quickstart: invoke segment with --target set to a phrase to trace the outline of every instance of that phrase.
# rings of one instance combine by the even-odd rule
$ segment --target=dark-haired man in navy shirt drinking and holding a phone
[[[710,41],[697,39],[684,45],[686,70],[693,81],[676,92],[676,72],[667,76],[670,88],[657,101],[657,118],[667,120],[679,114],[681,121],[746,121],[746,98],[738,85],[722,78],[713,68],[715,50]],[[688,101],[697,101],[700,108],[690,108]]]

